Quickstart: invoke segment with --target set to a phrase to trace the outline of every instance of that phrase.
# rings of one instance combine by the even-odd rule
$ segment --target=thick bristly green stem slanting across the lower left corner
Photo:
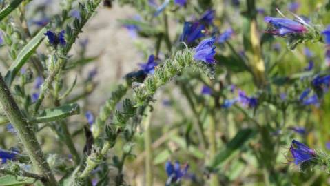
[[[43,151],[37,141],[37,137],[34,134],[32,127],[30,126],[25,118],[21,114],[17,103],[14,101],[10,90],[8,89],[5,81],[0,74],[0,103],[6,115],[17,131],[21,143],[28,153],[34,168],[38,174],[42,174],[45,179],[42,180],[45,185],[57,185],[56,180],[52,174],[50,166],[45,157],[43,156]]]

